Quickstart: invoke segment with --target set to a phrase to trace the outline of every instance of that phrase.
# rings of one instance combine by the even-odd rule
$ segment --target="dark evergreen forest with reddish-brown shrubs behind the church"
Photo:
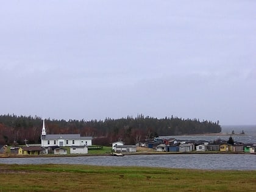
[[[17,142],[41,143],[42,119],[38,116],[0,116],[0,144]],[[109,145],[114,141],[126,144],[140,143],[158,135],[183,135],[197,133],[219,133],[219,121],[199,121],[199,119],[182,119],[178,117],[153,118],[138,115],[133,118],[85,121],[69,119],[46,119],[47,134],[80,133],[81,136],[92,136],[93,144]]]

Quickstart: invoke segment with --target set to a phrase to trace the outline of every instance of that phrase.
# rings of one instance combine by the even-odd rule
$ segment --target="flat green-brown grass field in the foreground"
[[[256,171],[0,165],[0,191],[255,191]]]

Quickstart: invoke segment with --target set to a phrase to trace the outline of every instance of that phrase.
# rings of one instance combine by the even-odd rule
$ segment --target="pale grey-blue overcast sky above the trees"
[[[0,114],[256,124],[256,1],[1,1]]]

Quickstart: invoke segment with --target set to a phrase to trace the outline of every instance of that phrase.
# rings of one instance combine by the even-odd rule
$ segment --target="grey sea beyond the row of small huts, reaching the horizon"
[[[176,138],[177,140],[205,140],[205,141],[216,141],[216,140],[229,140],[231,136],[235,142],[242,142],[244,144],[256,144],[256,125],[255,126],[221,126],[223,135],[168,135],[161,136],[163,138]],[[234,131],[235,134],[232,134]],[[244,135],[236,135],[244,131]]]

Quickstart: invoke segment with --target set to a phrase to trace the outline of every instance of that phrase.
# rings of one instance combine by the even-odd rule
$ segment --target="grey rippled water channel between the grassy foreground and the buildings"
[[[252,154],[168,154],[127,155],[124,157],[29,157],[0,158],[7,164],[82,164],[105,166],[151,166],[188,169],[256,170],[256,155]]]

